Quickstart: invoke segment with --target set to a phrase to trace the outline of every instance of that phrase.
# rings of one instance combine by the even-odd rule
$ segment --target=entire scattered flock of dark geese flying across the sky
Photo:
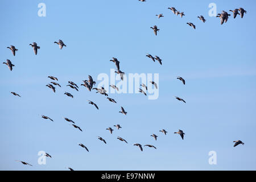
[[[141,1],[141,2],[146,2],[145,0],[139,0],[139,1]],[[181,13],[180,13],[180,11],[177,11],[177,10],[175,9],[175,7],[168,7],[168,9],[170,9],[170,10],[172,11],[172,13],[174,13],[175,15],[180,15],[181,18],[182,18],[183,16],[185,16],[184,12],[181,12]],[[236,18],[237,15],[240,15],[241,18],[243,18],[244,13],[246,13],[246,11],[245,11],[244,9],[242,9],[241,7],[240,7],[240,9],[234,9],[234,10],[229,10],[229,11],[232,11],[232,12],[233,12],[233,17],[234,17],[234,18]],[[158,18],[164,17],[163,14],[158,14],[158,15],[156,15],[156,16],[158,16]],[[226,22],[228,21],[229,16],[230,16],[230,14],[228,14],[226,11],[222,11],[222,13],[221,13],[221,14],[217,14],[216,17],[220,18],[220,19],[221,19],[221,24],[223,24],[224,22],[226,23]],[[205,18],[204,18],[203,15],[197,16],[197,18],[199,18],[203,23],[206,22],[206,20],[205,20]],[[194,29],[196,29],[195,24],[193,24],[193,23],[191,23],[191,22],[188,22],[187,24],[188,24],[189,26],[193,27]],[[155,34],[155,35],[158,34],[159,29],[158,29],[157,26],[153,26],[153,27],[150,27],[150,28],[152,28],[152,30],[154,31],[154,34]],[[54,42],[54,43],[55,43],[55,44],[58,44],[60,49],[63,49],[63,47],[67,47],[67,46],[64,44],[64,42],[63,42],[62,40],[59,40],[58,42]],[[38,49],[40,49],[40,47],[38,46],[38,44],[35,43],[35,42],[33,42],[32,44],[29,44],[29,45],[32,47],[32,49],[33,49],[35,55],[37,55],[37,54],[38,54]],[[16,51],[18,51],[18,49],[16,49],[15,46],[10,46],[10,47],[7,47],[7,48],[9,48],[9,49],[11,50],[11,52],[13,53],[13,56],[16,55]],[[157,60],[157,61],[159,62],[159,64],[162,65],[162,59],[160,59],[159,56],[155,56],[155,57],[154,57],[154,56],[152,56],[152,55],[150,55],[150,54],[147,54],[146,56],[149,57],[149,58],[150,58],[152,61],[154,61],[154,62],[155,62],[155,60]],[[123,80],[123,75],[124,75],[125,73],[120,70],[120,65],[119,65],[119,64],[120,64],[120,61],[118,61],[118,59],[115,58],[115,57],[112,57],[112,59],[111,59],[110,61],[112,61],[113,63],[115,63],[115,67],[117,67],[117,71],[115,71],[115,73],[117,73],[117,74],[121,77],[121,80]],[[14,64],[11,63],[11,61],[10,61],[9,59],[7,59],[6,62],[4,62],[3,64],[6,64],[6,65],[9,67],[10,71],[13,70]],[[47,86],[48,88],[50,88],[50,89],[55,93],[55,92],[56,92],[55,86],[61,87],[61,85],[56,82],[56,81],[58,81],[58,78],[56,78],[56,77],[54,77],[54,76],[48,76],[48,78],[50,78],[50,79],[53,80],[53,81],[51,81],[51,83],[47,84],[46,86]],[[185,80],[184,80],[184,78],[182,78],[182,77],[177,77],[177,79],[180,80],[180,81],[185,85]],[[106,99],[108,99],[110,102],[113,102],[113,103],[115,103],[115,104],[117,103],[113,98],[108,97],[108,93],[106,92],[105,88],[103,88],[103,87],[99,87],[99,88],[93,87],[93,85],[96,85],[96,81],[93,80],[92,76],[89,75],[89,76],[88,76],[88,80],[82,80],[82,82],[83,82],[83,84],[81,84],[81,86],[85,86],[85,88],[88,89],[89,92],[91,92],[92,90],[97,90],[96,93],[103,94],[104,96],[106,96]],[[151,83],[152,85],[154,85],[155,89],[158,89],[158,85],[156,84],[156,82],[150,81],[150,83]],[[53,85],[55,85],[55,86],[53,86]],[[77,84],[76,84],[75,82],[73,82],[73,81],[68,81],[68,85],[66,85],[66,86],[69,86],[70,88],[72,88],[72,89],[74,89],[74,90],[76,90],[76,91],[79,91],[79,86],[77,86]],[[109,86],[112,87],[113,89],[117,90],[117,91],[119,90],[118,87],[115,86],[115,85],[109,85]],[[144,94],[145,96],[147,96],[147,93],[146,93],[146,92],[147,92],[147,86],[146,86],[145,84],[143,84],[143,83],[141,84],[141,86],[142,86],[142,88],[144,88],[144,89],[146,89],[146,90],[143,90],[142,88],[140,88],[140,89],[139,89],[139,92],[141,92],[142,94]],[[21,97],[18,93],[15,93],[15,92],[11,92],[11,94],[13,94],[14,96]],[[68,92],[65,92],[64,94],[67,95],[68,97],[71,97],[71,98],[74,97],[71,93],[68,93]],[[176,98],[177,100],[179,100],[179,101],[182,101],[182,102],[186,103],[186,102],[185,102],[182,98],[180,98],[180,97],[175,97],[175,98]],[[88,104],[91,104],[91,105],[93,105],[94,107],[96,107],[96,109],[99,109],[99,107],[97,106],[97,104],[95,104],[93,101],[89,101],[89,100],[88,100]],[[125,109],[124,109],[122,106],[121,106],[121,111],[119,111],[119,113],[122,113],[122,114],[124,114],[124,115],[127,114],[127,112],[125,111]],[[46,115],[42,115],[42,118],[43,118],[43,119],[49,119],[49,121],[52,121],[52,122],[53,122],[53,119],[49,118],[49,117],[46,116]],[[75,127],[77,130],[82,131],[82,129],[81,129],[79,126],[75,125],[75,122],[74,122],[74,121],[72,121],[71,119],[68,119],[68,118],[64,118],[64,119],[65,119],[65,121],[72,123],[71,126]],[[122,128],[119,124],[114,125],[114,127],[116,127],[117,130],[119,130],[119,129]],[[109,130],[110,134],[112,134],[113,131],[114,131],[114,130],[112,129],[112,127],[108,127],[106,130]],[[164,135],[167,135],[167,131],[164,130],[164,129],[160,130],[160,132],[163,133]],[[184,139],[185,133],[184,133],[182,130],[179,130],[179,131],[175,132],[174,134],[179,134],[180,137],[181,137],[181,139]],[[157,136],[156,134],[152,134],[151,137],[153,137],[155,140],[157,140],[157,138],[158,138],[158,136]],[[101,140],[102,142],[104,142],[104,143],[106,144],[106,140],[105,140],[104,138],[98,137],[98,139]],[[127,141],[126,141],[125,139],[121,138],[121,137],[117,137],[117,139],[118,139],[118,140],[121,140],[122,142],[127,143]],[[244,143],[243,143],[241,140],[236,140],[236,141],[234,141],[234,147],[236,147],[238,144],[242,144],[242,145],[243,145]],[[139,149],[140,149],[141,151],[143,151],[142,144],[140,144],[140,143],[135,143],[135,144],[133,144],[133,145],[134,145],[134,146],[138,146]],[[81,146],[82,148],[85,148],[85,150],[89,152],[88,147],[86,147],[84,144],[79,143],[79,146]],[[144,147],[150,147],[150,148],[155,148],[155,149],[156,149],[156,147],[153,146],[153,145],[151,145],[151,144],[145,144]],[[49,155],[49,154],[47,154],[47,153],[45,154],[45,156],[47,156],[47,157],[49,157],[49,158],[52,158],[52,156]],[[29,164],[29,163],[27,163],[27,162],[24,162],[24,161],[22,161],[22,160],[16,160],[16,161],[18,161],[18,162],[20,162],[20,163],[22,163],[22,164],[24,164],[24,165],[32,166],[31,164]],[[71,167],[67,167],[67,168],[68,168],[69,170],[73,171],[73,169],[72,169]]]

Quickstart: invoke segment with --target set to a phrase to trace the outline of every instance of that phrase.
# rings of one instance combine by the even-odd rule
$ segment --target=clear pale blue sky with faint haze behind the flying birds
[[[46,17],[38,16],[41,2],[46,4]],[[212,2],[217,13],[243,7],[247,14],[243,19],[230,16],[221,25],[219,18],[208,15]],[[1,60],[10,59],[15,67],[10,72],[1,64],[0,69],[0,169],[255,170],[255,5],[203,0],[1,1]],[[167,9],[172,6],[185,16],[172,14]],[[160,13],[164,17],[158,19],[155,15]],[[150,29],[154,25],[160,29],[158,36]],[[62,50],[53,44],[59,39],[67,44]],[[28,46],[32,42],[41,47],[36,56]],[[19,49],[15,57],[6,48],[10,45]],[[163,65],[153,63],[147,53],[161,57]],[[115,68],[112,57],[121,61],[125,73],[159,73],[159,98],[109,94],[118,102],[113,104],[82,86],[79,92],[65,86],[69,80],[80,85],[88,75],[96,80],[100,73],[110,74]],[[45,86],[51,82],[49,75],[59,78],[62,87],[56,93]],[[126,116],[118,113],[120,106]],[[75,121],[83,132],[63,117]],[[115,124],[122,129],[117,131]],[[107,127],[114,129],[112,135]],[[174,134],[179,129],[184,140]],[[152,133],[159,136],[157,141]],[[238,139],[245,145],[234,148],[233,140]],[[152,144],[157,150],[144,147],[141,152],[134,143]],[[46,165],[37,163],[42,150],[52,155]],[[208,164],[209,151],[217,152],[217,165]]]

